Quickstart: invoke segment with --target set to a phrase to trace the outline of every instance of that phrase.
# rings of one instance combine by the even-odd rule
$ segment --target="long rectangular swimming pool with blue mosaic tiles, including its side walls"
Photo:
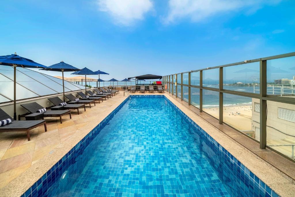
[[[277,196],[163,95],[125,100],[30,195]]]

